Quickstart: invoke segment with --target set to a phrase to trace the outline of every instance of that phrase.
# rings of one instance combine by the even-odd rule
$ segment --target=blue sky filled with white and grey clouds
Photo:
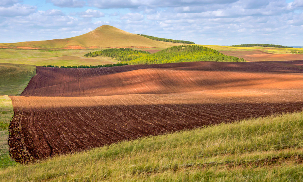
[[[303,0],[0,0],[0,42],[74,37],[108,24],[205,45],[303,45]]]

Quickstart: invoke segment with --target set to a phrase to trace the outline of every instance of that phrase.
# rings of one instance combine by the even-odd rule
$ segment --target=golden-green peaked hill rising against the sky
[[[176,43],[154,41],[118,28],[102,25],[76,37],[48,41],[31,41],[0,44],[0,47],[21,49],[92,49],[108,47],[157,47],[167,48]]]

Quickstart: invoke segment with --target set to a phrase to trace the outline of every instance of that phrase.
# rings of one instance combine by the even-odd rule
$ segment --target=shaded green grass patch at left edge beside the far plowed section
[[[0,63],[0,95],[20,95],[35,74],[34,65]]]

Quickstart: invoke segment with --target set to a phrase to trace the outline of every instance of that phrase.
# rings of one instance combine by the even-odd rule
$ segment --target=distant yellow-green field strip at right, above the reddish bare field
[[[230,46],[217,46],[217,45],[201,45],[205,47],[209,47],[216,50],[261,50],[268,53],[274,54],[290,54],[292,50],[300,51],[303,50],[301,48],[275,48],[275,47],[230,47]]]

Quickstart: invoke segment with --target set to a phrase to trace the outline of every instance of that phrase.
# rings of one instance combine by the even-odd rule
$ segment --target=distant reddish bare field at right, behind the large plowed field
[[[303,54],[271,54],[260,50],[233,50],[220,51],[228,56],[236,56],[246,61],[290,61],[303,60]]]

